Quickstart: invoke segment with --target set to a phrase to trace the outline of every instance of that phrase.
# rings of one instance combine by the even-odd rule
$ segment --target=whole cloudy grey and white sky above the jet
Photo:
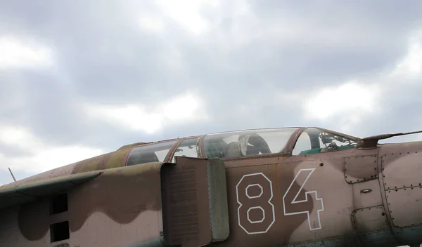
[[[131,142],[422,129],[422,1],[0,1],[0,185]],[[422,135],[391,142],[422,140]]]

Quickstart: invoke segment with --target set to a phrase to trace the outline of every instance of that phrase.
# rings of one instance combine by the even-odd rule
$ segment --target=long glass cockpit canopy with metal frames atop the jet
[[[300,135],[297,140],[293,133]],[[297,136],[297,135],[295,135]],[[291,152],[292,155],[334,152],[356,147],[359,138],[322,128],[267,128],[230,131],[167,140],[134,147],[127,166],[155,161],[175,161],[176,156],[235,159]],[[295,145],[288,145],[295,142]],[[293,147],[287,150],[286,147]]]

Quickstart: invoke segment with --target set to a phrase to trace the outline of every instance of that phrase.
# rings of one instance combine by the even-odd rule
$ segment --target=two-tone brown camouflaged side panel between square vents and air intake
[[[160,168],[163,163],[105,170],[69,194],[73,246],[125,246],[160,237]],[[82,201],[81,199],[87,199]],[[95,212],[94,212],[95,210]],[[85,232],[91,232],[87,235]],[[119,236],[124,233],[124,238]],[[101,236],[92,238],[90,236]]]

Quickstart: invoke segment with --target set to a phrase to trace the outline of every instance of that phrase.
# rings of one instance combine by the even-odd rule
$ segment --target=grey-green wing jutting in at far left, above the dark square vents
[[[67,191],[75,185],[80,185],[98,177],[101,173],[103,171],[78,173],[46,180],[13,182],[9,185],[1,186],[0,209]]]

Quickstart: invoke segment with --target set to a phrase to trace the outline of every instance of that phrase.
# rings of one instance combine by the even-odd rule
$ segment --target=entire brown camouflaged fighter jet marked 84
[[[0,246],[418,246],[422,142],[378,143],[405,134],[125,145],[0,187]]]

